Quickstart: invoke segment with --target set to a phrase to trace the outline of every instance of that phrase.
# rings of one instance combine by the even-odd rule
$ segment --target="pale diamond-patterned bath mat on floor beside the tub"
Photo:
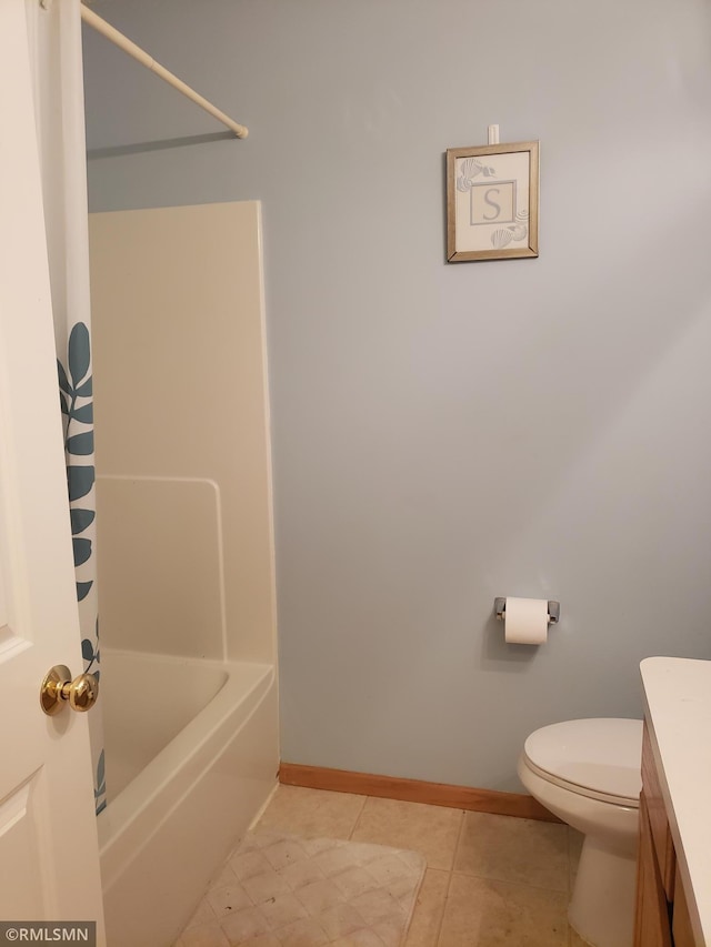
[[[250,833],[179,945],[251,944],[271,936],[309,947],[351,943],[346,938],[399,947],[424,869],[417,852],[278,830]]]

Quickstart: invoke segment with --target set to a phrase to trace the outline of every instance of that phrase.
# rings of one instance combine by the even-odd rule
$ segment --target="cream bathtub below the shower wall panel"
[[[274,668],[102,647],[101,705],[108,945],[169,947],[277,785]]]

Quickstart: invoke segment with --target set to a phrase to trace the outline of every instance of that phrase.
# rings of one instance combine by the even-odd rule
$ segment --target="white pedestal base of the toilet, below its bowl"
[[[592,947],[632,947],[637,852],[587,835],[568,908],[571,927]]]

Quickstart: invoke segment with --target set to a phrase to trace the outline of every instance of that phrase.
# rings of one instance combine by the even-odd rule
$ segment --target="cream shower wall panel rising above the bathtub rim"
[[[271,662],[259,203],[94,213],[90,250],[102,638]]]

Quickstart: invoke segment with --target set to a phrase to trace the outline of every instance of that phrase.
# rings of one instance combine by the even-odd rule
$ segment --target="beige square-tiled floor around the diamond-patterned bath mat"
[[[567,905],[581,836],[565,825],[469,813],[420,803],[280,786],[256,832],[281,832],[418,852],[427,859],[404,947],[584,947]],[[220,889],[230,863],[176,947],[230,947]],[[253,947],[318,941],[259,937]],[[346,935],[339,947],[382,947]]]

